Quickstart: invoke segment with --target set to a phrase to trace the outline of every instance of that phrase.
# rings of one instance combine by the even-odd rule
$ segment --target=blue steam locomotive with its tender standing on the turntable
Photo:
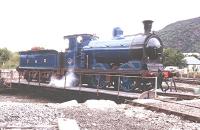
[[[143,21],[144,33],[136,35],[124,36],[120,28],[114,28],[113,39],[107,41],[91,34],[64,36],[65,52],[22,51],[17,70],[27,81],[46,82],[52,75],[73,70],[79,82],[90,87],[148,90],[154,79],[145,77],[156,76],[163,67],[163,44],[151,33],[152,22]]]

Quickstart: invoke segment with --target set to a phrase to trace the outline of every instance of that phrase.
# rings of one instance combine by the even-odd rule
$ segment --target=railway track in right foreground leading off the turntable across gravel
[[[200,105],[188,105],[160,99],[154,101],[133,100],[126,101],[126,103],[134,106],[142,106],[157,112],[177,115],[183,119],[200,123]]]

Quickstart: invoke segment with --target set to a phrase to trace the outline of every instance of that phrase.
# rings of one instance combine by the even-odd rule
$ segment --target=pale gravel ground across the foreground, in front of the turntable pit
[[[102,105],[97,105],[102,104]],[[117,105],[108,100],[85,103],[0,102],[0,129],[58,129],[58,119],[76,120],[82,130],[198,130],[200,124],[143,107]],[[31,128],[35,127],[35,128]]]

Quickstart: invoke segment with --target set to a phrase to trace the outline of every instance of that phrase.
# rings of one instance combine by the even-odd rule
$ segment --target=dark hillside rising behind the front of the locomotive
[[[165,47],[200,53],[200,17],[169,24],[158,35]]]

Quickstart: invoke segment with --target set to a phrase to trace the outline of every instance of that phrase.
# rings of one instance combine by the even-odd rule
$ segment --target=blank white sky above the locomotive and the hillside
[[[125,35],[199,17],[199,0],[0,0],[0,48],[30,50],[34,46],[63,51],[63,36],[75,33],[112,38],[112,29]]]

